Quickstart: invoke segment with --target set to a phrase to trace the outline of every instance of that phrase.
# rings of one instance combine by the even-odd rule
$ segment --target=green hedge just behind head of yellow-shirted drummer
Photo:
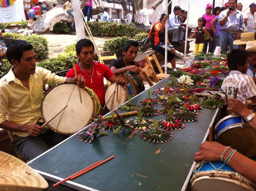
[[[3,38],[14,38],[28,41],[34,47],[36,54],[35,58],[37,59],[43,59],[49,53],[47,40],[41,35],[23,36],[15,33],[5,32],[3,33]]]

